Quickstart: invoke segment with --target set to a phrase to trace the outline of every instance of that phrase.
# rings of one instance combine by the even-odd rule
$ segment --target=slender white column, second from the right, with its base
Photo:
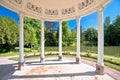
[[[76,63],[80,63],[80,17],[77,17],[77,52],[76,52]]]

